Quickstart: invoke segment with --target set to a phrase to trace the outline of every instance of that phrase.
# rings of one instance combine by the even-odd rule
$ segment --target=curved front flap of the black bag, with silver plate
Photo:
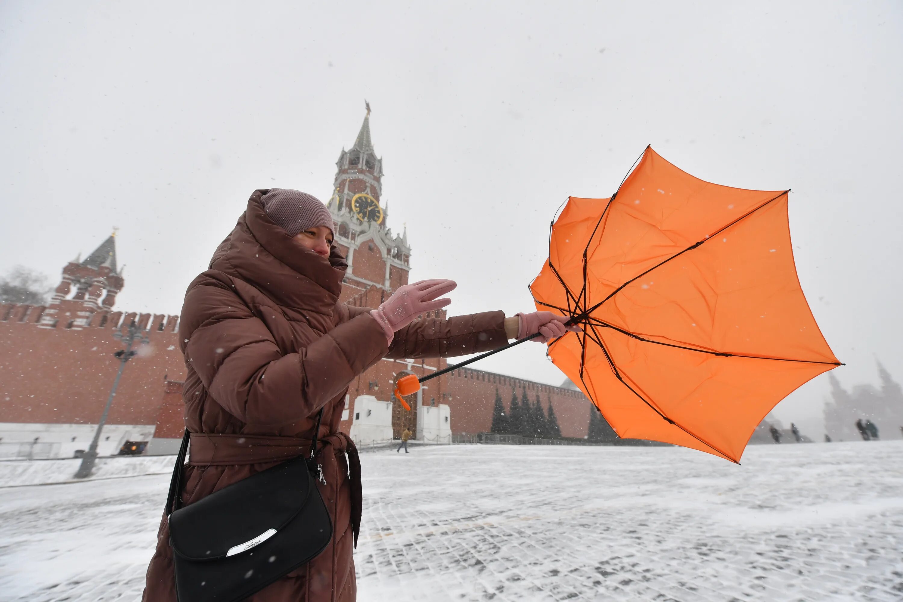
[[[189,560],[251,550],[301,512],[314,486],[304,458],[225,486],[170,514],[172,549]]]

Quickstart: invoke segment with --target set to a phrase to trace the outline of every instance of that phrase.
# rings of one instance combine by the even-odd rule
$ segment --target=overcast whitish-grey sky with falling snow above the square
[[[647,144],[792,188],[796,264],[843,384],[903,380],[903,5],[0,4],[0,273],[56,282],[119,227],[121,310],[178,313],[257,188],[330,196],[373,107],[389,225],[452,314],[529,310],[549,219]],[[527,344],[484,369],[559,384]],[[777,407],[817,439],[827,377]]]

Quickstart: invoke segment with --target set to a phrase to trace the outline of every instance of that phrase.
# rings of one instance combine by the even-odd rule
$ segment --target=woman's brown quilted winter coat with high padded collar
[[[180,327],[188,367],[185,423],[192,433],[203,434],[192,435],[182,500],[190,505],[296,455],[296,446],[286,453],[285,447],[280,450],[286,440],[276,438],[311,440],[323,408],[317,460],[327,485],[318,486],[332,518],[332,542],[249,599],[352,601],[352,523],[360,504],[354,493],[360,484],[349,479],[346,450],[353,461],[353,443],[338,432],[349,384],[381,357],[449,357],[500,347],[507,342],[505,316],[492,311],[417,320],[396,332],[387,347],[368,308],[338,302],[348,267],[344,258],[335,247],[327,259],[295,243],[266,217],[260,205],[265,192],[254,192],[210,269],[185,295]],[[272,453],[264,460],[261,451]],[[353,477],[356,467],[351,468]],[[165,514],[143,600],[176,600]]]

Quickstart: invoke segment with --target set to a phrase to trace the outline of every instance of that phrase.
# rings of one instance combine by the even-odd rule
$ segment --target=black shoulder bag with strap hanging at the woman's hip
[[[180,602],[236,602],[312,560],[332,539],[330,514],[314,482],[311,453],[267,468],[182,507],[190,433],[172,470],[166,512]]]

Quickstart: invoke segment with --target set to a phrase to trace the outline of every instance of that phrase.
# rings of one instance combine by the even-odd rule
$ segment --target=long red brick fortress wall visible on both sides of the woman
[[[344,295],[343,295],[344,296]],[[377,307],[384,292],[377,287],[350,296],[349,304]],[[113,324],[127,324],[134,317],[146,325],[151,344],[144,353],[129,361],[110,411],[112,424],[157,424],[157,437],[178,438],[182,434],[181,384],[184,379],[182,353],[178,348],[177,316],[136,315],[121,312],[107,315],[107,324],[99,326],[97,314],[83,329],[39,328],[43,308],[0,307],[0,421],[96,423],[107,402],[116,377],[118,362],[113,353],[122,348],[113,338]],[[62,311],[62,310],[61,310]],[[444,311],[438,315],[444,317]],[[61,314],[65,316],[63,311]],[[429,316],[426,316],[429,317]],[[23,321],[19,321],[24,318]],[[160,326],[163,325],[163,330]],[[453,360],[452,360],[453,361]],[[349,387],[349,419],[358,395],[371,394],[382,401],[397,404],[392,395],[396,373],[410,370],[423,377],[447,365],[445,359],[382,360]],[[165,376],[165,379],[164,379]],[[371,385],[372,383],[372,385]],[[551,399],[562,434],[583,437],[589,424],[589,402],[580,392],[536,384],[522,379],[462,368],[425,384],[423,400],[429,405],[447,403],[452,409],[452,432],[489,431],[496,389],[506,409],[512,388],[518,399],[526,386],[530,401],[539,393],[547,412]],[[348,432],[351,422],[340,428]]]

